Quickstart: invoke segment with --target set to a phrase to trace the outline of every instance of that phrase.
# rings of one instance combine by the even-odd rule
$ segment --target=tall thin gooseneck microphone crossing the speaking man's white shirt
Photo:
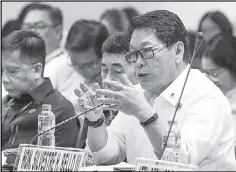
[[[183,87],[182,87],[181,94],[180,94],[179,100],[178,100],[178,102],[177,102],[177,106],[175,107],[174,115],[173,115],[173,118],[172,118],[172,120],[171,120],[171,125],[170,125],[170,128],[169,128],[169,130],[168,130],[167,138],[166,138],[165,143],[164,143],[164,145],[163,145],[163,149],[162,149],[162,151],[161,151],[161,155],[159,156],[159,160],[161,160],[161,158],[162,158],[162,156],[163,156],[163,154],[164,154],[165,148],[166,148],[166,146],[167,146],[168,139],[169,139],[169,136],[170,136],[170,132],[171,132],[172,126],[173,126],[173,124],[174,124],[177,111],[178,111],[178,109],[179,109],[179,107],[180,107],[180,101],[181,101],[181,98],[182,98],[182,95],[183,95],[183,92],[184,92],[184,89],[185,89],[185,85],[186,85],[187,80],[188,80],[188,76],[189,76],[189,73],[190,73],[190,70],[191,70],[191,66],[192,66],[192,63],[193,63],[193,59],[195,58],[197,52],[199,51],[199,49],[200,49],[200,47],[201,47],[201,45],[202,45],[202,43],[203,43],[203,40],[204,40],[204,39],[203,39],[203,34],[202,34],[202,32],[198,32],[198,33],[196,34],[196,36],[195,36],[194,51],[193,51],[193,56],[192,56],[192,58],[191,58],[191,62],[190,62],[190,64],[189,64],[189,69],[188,69],[188,72],[187,72],[187,76],[186,76],[186,78],[185,78],[185,80],[184,80],[184,85],[183,85]]]

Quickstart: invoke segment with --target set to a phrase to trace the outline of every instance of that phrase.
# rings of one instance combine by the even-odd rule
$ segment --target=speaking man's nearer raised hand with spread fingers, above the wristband
[[[106,108],[108,110],[122,111],[127,115],[137,117],[140,121],[147,119],[147,114],[152,116],[153,110],[146,101],[144,91],[136,88],[126,75],[121,75],[119,79],[122,83],[103,81],[107,88],[97,89],[96,93],[106,97],[98,98],[98,101],[104,104],[112,104]]]

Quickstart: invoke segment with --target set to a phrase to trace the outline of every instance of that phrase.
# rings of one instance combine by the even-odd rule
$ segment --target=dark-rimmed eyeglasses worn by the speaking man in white
[[[148,47],[149,48],[149,47]],[[151,48],[151,47],[150,47]],[[152,49],[150,49],[149,51],[152,51],[152,57],[145,57],[144,55],[143,55],[143,53],[141,52],[142,50],[144,50],[144,49],[147,49],[147,48],[142,48],[142,49],[140,49],[140,50],[137,50],[137,51],[129,51],[129,52],[127,52],[127,53],[125,53],[124,54],[124,57],[126,58],[126,60],[128,61],[128,62],[130,62],[130,63],[135,63],[137,60],[138,60],[138,55],[137,55],[137,53],[143,58],[143,59],[151,59],[151,58],[153,58],[154,57],[154,55],[155,55],[155,50],[156,49],[158,49],[158,48],[160,48],[156,53],[158,53],[158,52],[160,52],[160,51],[162,51],[164,48],[166,48],[166,44],[161,44],[161,45],[158,45],[158,46],[156,46],[156,47],[152,47]],[[135,61],[130,61],[129,59],[128,59],[128,57],[127,57],[127,54],[128,53],[136,53],[136,60]]]

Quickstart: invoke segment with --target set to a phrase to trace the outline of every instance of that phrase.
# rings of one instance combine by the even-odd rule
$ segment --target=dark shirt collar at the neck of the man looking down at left
[[[44,82],[29,92],[30,96],[36,103],[40,103],[53,90],[52,83],[49,78],[44,78]]]

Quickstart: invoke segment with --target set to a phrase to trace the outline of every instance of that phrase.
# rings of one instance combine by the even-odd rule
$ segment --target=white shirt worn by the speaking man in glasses
[[[153,103],[158,120],[167,131],[187,68]],[[230,104],[223,93],[199,70],[191,69],[178,110],[177,128],[181,132],[181,149],[189,153],[191,164],[198,170],[236,170],[234,157],[235,133]],[[100,164],[127,158],[135,164],[136,157],[156,159],[152,145],[139,121],[119,113],[108,129],[108,141],[103,149],[93,152]]]

